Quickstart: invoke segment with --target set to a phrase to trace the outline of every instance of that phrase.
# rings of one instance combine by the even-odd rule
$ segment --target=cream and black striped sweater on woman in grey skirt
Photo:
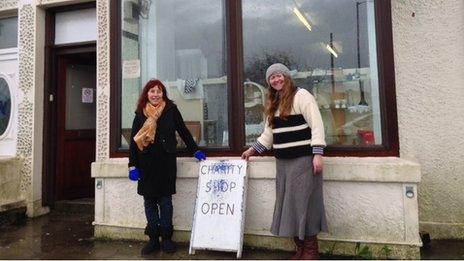
[[[323,154],[326,146],[324,124],[314,96],[298,88],[287,120],[274,115],[274,128],[266,122],[264,132],[252,147],[262,153],[274,149],[276,158]]]

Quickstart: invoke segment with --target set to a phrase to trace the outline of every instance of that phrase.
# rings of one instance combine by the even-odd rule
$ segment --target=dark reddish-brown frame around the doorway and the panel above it
[[[42,150],[42,206],[53,208],[56,200],[56,160],[58,111],[55,98],[58,93],[57,62],[60,55],[95,52],[96,41],[55,45],[55,16],[58,12],[96,7],[96,3],[60,6],[47,9],[45,15],[45,64],[44,64],[44,125]],[[50,97],[53,95],[53,101]]]

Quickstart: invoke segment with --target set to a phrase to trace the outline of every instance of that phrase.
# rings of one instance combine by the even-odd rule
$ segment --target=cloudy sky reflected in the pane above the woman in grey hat
[[[271,3],[274,5],[268,8]],[[296,4],[310,21],[311,32],[293,14],[294,1],[243,2],[245,64],[264,54],[286,53],[296,61],[293,69],[329,68],[325,45],[333,33],[334,43],[343,47],[334,66],[357,67],[356,1],[299,0]],[[365,5],[360,8],[361,67],[368,67],[367,12]]]

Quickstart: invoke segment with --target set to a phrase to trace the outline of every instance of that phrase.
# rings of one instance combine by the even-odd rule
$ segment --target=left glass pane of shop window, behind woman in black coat
[[[151,78],[167,86],[199,145],[228,147],[224,1],[121,4],[121,147],[128,147],[135,105]]]

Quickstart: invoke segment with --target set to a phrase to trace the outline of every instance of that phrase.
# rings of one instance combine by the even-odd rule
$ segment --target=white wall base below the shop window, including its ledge
[[[221,159],[221,158],[214,158]],[[234,158],[229,158],[234,159]],[[324,202],[329,233],[319,234],[320,251],[354,255],[357,242],[373,257],[419,258],[417,206],[420,165],[400,158],[325,158]],[[199,163],[179,158],[174,204],[174,238],[188,242]],[[275,201],[275,160],[254,157],[248,163],[244,244],[293,250],[290,239],[269,229]],[[95,178],[95,235],[145,239],[145,215],[137,183],[127,178],[127,159],[92,164]]]

